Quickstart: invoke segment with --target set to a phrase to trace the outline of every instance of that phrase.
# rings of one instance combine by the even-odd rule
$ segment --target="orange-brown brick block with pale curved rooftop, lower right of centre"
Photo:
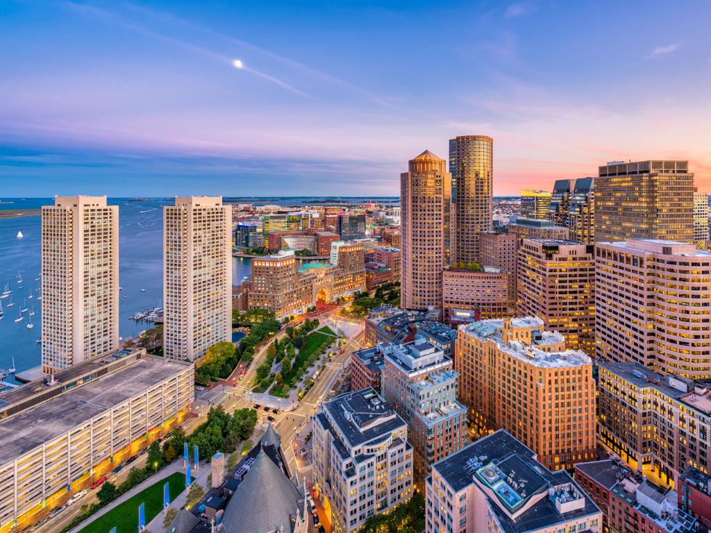
[[[550,470],[595,457],[592,359],[540,318],[461,326],[454,368],[474,436],[506,429]]]

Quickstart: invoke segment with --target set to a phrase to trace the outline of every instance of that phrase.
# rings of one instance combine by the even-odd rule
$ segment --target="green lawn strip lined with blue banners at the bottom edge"
[[[138,506],[146,504],[146,524],[163,510],[163,485],[170,483],[171,502],[185,489],[185,474],[176,472],[166,479],[142,490],[121,505],[117,505],[102,517],[81,529],[80,533],[109,533],[116,526],[116,533],[136,533],[138,531]]]

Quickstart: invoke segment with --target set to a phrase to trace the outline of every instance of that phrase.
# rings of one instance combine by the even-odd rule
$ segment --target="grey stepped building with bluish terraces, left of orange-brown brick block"
[[[380,390],[407,422],[414,452],[415,485],[424,486],[432,463],[459,451],[466,438],[466,407],[456,401],[452,360],[427,340],[384,352]]]

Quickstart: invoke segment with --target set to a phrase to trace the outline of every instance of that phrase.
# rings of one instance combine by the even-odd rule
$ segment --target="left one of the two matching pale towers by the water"
[[[106,197],[42,206],[42,371],[119,343],[119,208]]]

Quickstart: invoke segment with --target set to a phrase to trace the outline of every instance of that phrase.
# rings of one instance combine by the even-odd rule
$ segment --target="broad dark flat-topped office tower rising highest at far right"
[[[614,161],[595,178],[595,242],[694,240],[688,161]]]

